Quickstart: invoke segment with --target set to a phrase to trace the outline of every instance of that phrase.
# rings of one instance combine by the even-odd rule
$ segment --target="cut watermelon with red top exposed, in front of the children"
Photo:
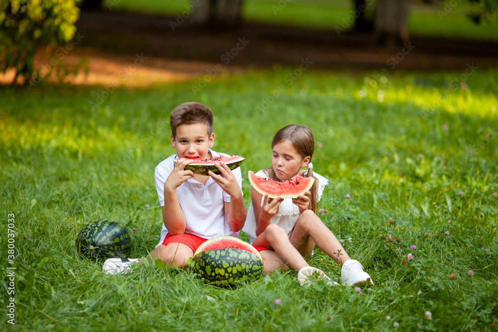
[[[232,287],[263,275],[263,261],[257,250],[233,236],[218,236],[204,242],[193,260],[198,276],[215,286]]]

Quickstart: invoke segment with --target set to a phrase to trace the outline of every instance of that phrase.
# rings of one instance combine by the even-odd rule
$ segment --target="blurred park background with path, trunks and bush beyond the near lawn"
[[[43,76],[109,84],[116,66],[142,53],[148,61],[126,85],[195,79],[213,63],[237,72],[305,57],[315,68],[461,70],[472,61],[496,67],[497,6],[496,0],[2,1],[0,82]],[[249,41],[244,51],[234,49],[239,38]],[[416,55],[406,56],[412,49]]]

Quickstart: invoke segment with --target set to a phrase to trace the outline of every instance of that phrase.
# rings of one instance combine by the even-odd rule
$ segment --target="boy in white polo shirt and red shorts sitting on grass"
[[[213,113],[201,103],[183,103],[171,111],[171,146],[176,153],[155,168],[157,196],[162,208],[163,225],[159,244],[151,253],[165,264],[185,267],[195,250],[204,241],[215,236],[239,236],[246,221],[246,207],[242,193],[240,168],[231,171],[225,163],[217,163],[221,176],[194,174],[185,170],[192,159],[220,156],[211,150]],[[103,270],[122,273],[138,259],[111,258]]]

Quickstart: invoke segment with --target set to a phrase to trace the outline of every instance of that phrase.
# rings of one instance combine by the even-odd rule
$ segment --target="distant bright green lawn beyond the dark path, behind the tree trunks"
[[[441,1],[439,6],[413,4],[408,21],[409,34],[451,39],[498,40],[496,20],[474,24],[466,16],[473,8],[468,2],[458,2],[457,5],[449,5],[445,9],[446,2],[450,1]],[[111,8],[176,16],[186,11],[190,4],[189,0],[121,0]],[[107,8],[106,5],[104,8]],[[280,4],[278,0],[246,0],[242,16],[248,21],[336,31],[337,26],[343,27],[344,22],[351,18],[352,10],[352,0],[282,1]],[[373,10],[374,5],[369,5],[366,15],[372,18]],[[346,24],[344,27],[346,30],[353,28],[352,24]]]

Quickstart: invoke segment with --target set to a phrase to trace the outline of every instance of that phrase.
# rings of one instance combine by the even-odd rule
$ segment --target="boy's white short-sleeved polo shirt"
[[[213,157],[228,156],[209,149]],[[177,158],[174,154],[169,158],[161,161],[155,168],[154,177],[156,183],[157,197],[161,207],[164,206],[164,183],[169,174],[173,171],[173,159]],[[242,188],[241,169],[236,168],[232,171],[239,186]],[[239,237],[239,232],[233,231],[227,223],[225,216],[224,202],[230,202],[230,195],[210,177],[206,185],[194,180],[188,179],[176,189],[178,202],[185,215],[187,226],[186,233],[196,235],[202,238],[210,239],[215,236],[235,236]],[[157,246],[161,245],[166,237],[168,230],[162,222],[161,239]],[[157,247],[156,246],[156,247]]]

